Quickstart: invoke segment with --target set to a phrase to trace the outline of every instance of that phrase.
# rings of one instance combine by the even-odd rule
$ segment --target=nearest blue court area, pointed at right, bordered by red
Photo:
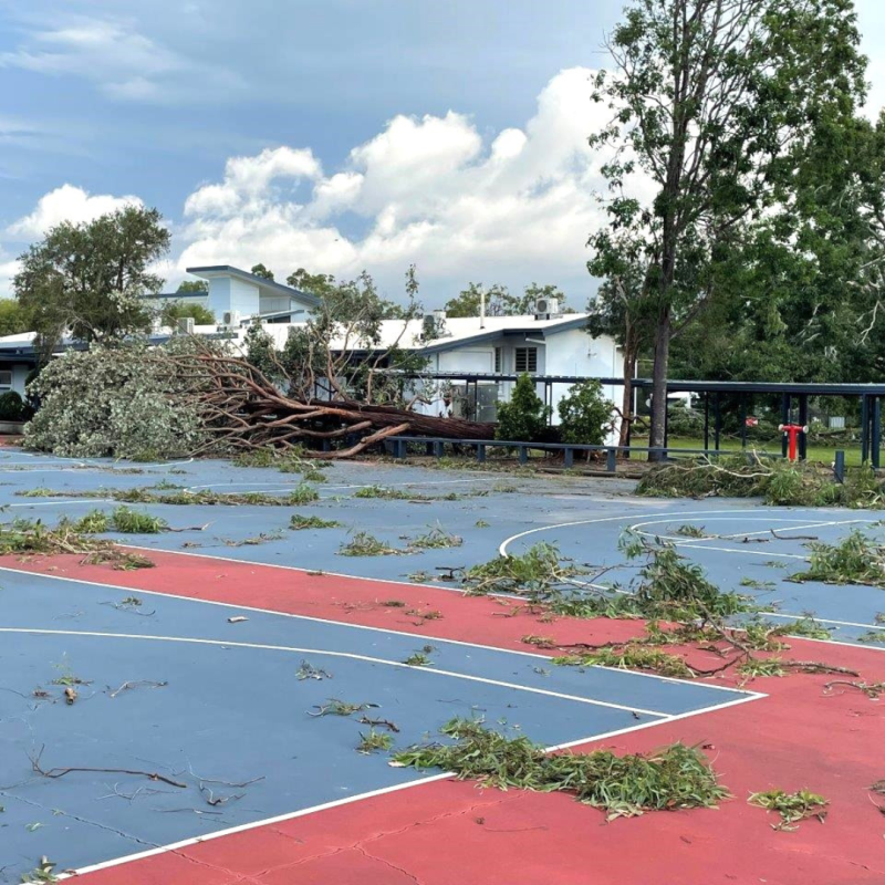
[[[361,716],[395,747],[454,716],[561,746],[760,697],[45,575],[0,585],[0,882],[40,855],[83,867],[426,779],[357,752]],[[403,663],[425,645],[431,666]],[[330,698],[373,706],[311,716]]]

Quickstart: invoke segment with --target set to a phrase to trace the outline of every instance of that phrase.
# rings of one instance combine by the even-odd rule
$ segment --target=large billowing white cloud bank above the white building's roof
[[[602,220],[594,194],[605,184],[586,144],[606,113],[590,101],[590,75],[560,72],[524,128],[491,138],[449,112],[395,117],[329,176],[310,152],[288,147],[230,159],[221,183],[187,200],[179,270],[262,261],[278,275],[305,267],[347,277],[366,268],[398,287],[415,262],[440,293],[470,279],[543,280],[571,284],[580,305],[591,289],[585,243]],[[343,232],[354,228],[363,230]]]

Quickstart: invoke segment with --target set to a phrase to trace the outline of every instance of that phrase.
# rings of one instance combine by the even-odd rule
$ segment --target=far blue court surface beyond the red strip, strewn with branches
[[[133,469],[139,472],[129,472]],[[884,540],[885,529],[875,511],[774,508],[735,499],[637,498],[629,494],[632,483],[622,480],[508,477],[391,464],[336,464],[325,476],[326,482],[315,485],[321,500],[295,508],[135,506],[162,516],[181,531],[125,535],[121,540],[246,562],[436,583],[446,573],[439,569],[469,566],[488,561],[499,551],[520,552],[532,543],[548,541],[564,556],[591,568],[617,565],[606,577],[626,583],[632,570],[617,551],[617,540],[625,529],[633,529],[676,544],[707,570],[714,583],[756,596],[773,618],[790,621],[813,614],[832,631],[835,641],[852,643],[863,636],[871,647],[885,645],[885,626],[877,620],[885,612],[882,590],[787,580],[803,569],[810,539],[833,543],[861,529]],[[0,454],[0,504],[12,516],[50,523],[62,516],[77,518],[96,508],[111,510],[115,506],[111,500],[79,498],[77,491],[157,483],[222,494],[257,491],[283,496],[301,483],[301,477],[210,460],[115,465],[17,451]],[[361,489],[376,485],[423,496],[424,500],[355,497]],[[20,494],[35,488],[74,497]],[[446,500],[448,496],[456,498]],[[341,528],[293,532],[288,528],[293,512],[336,520]],[[679,534],[685,525],[701,529],[707,537]],[[367,531],[405,550],[412,540],[434,528],[460,537],[462,545],[403,555],[340,554],[356,531]],[[451,583],[444,585],[455,589]],[[882,642],[875,638],[879,635]]]

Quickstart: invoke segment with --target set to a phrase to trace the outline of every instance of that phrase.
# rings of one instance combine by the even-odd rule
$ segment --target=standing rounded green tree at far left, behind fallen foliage
[[[63,222],[20,257],[13,288],[49,353],[65,331],[77,341],[118,341],[150,329],[140,295],[159,292],[152,266],[169,248],[156,209],[127,206],[81,225]]]

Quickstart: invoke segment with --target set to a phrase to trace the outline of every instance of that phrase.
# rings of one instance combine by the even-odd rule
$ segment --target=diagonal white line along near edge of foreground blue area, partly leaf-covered
[[[554,752],[556,750],[568,750],[572,747],[580,747],[584,743],[591,743],[600,740],[607,740],[610,738],[617,738],[622,735],[629,735],[634,731],[644,731],[647,728],[655,728],[662,725],[668,725],[669,722],[677,722],[683,719],[690,719],[695,716],[702,716],[708,712],[716,712],[718,710],[723,710],[728,707],[735,707],[738,704],[747,704],[751,700],[760,700],[762,698],[767,698],[768,695],[760,695],[760,694],[749,694],[747,697],[741,697],[736,700],[729,700],[723,704],[717,704],[712,707],[706,707],[702,710],[691,710],[690,712],[680,712],[674,714],[666,719],[660,719],[657,721],[652,722],[642,722],[641,725],[636,726],[627,726],[626,728],[618,728],[614,731],[605,731],[602,735],[592,735],[586,738],[580,738],[577,740],[569,741],[568,743],[558,743],[553,747],[548,747],[546,752]],[[440,774],[431,774],[428,778],[420,778],[415,781],[410,781],[409,783],[397,783],[393,787],[383,787],[379,790],[369,790],[365,793],[360,793],[358,795],[351,795],[346,799],[336,799],[332,802],[323,802],[320,805],[312,805],[308,809],[301,809],[300,811],[292,811],[287,814],[278,814],[274,818],[266,818],[261,821],[252,821],[250,823],[242,823],[238,824],[237,826],[230,826],[227,830],[217,830],[214,833],[206,833],[199,836],[192,836],[191,839],[184,839],[180,842],[173,842],[168,845],[158,845],[155,848],[147,848],[146,851],[136,852],[134,854],[127,854],[124,857],[115,857],[112,861],[101,861],[97,864],[92,864],[90,866],[82,866],[79,870],[73,871],[72,873],[63,873],[59,876],[59,879],[70,878],[72,876],[82,876],[86,873],[96,873],[100,870],[107,870],[110,867],[119,866],[122,864],[132,863],[133,861],[140,861],[146,857],[154,857],[158,854],[166,854],[168,852],[180,851],[181,848],[190,847],[191,845],[199,845],[204,842],[211,842],[216,839],[221,839],[223,836],[235,835],[236,833],[244,833],[249,830],[257,830],[261,826],[270,826],[277,823],[283,823],[284,821],[293,821],[298,818],[306,818],[309,814],[316,814],[321,811],[329,811],[330,809],[340,808],[341,805],[350,805],[354,802],[362,802],[366,799],[374,799],[375,796],[386,795],[387,793],[396,793],[400,790],[409,790],[414,787],[423,787],[426,783],[433,783],[434,781],[441,781],[448,780],[455,777],[455,772],[451,771],[444,771]]]

